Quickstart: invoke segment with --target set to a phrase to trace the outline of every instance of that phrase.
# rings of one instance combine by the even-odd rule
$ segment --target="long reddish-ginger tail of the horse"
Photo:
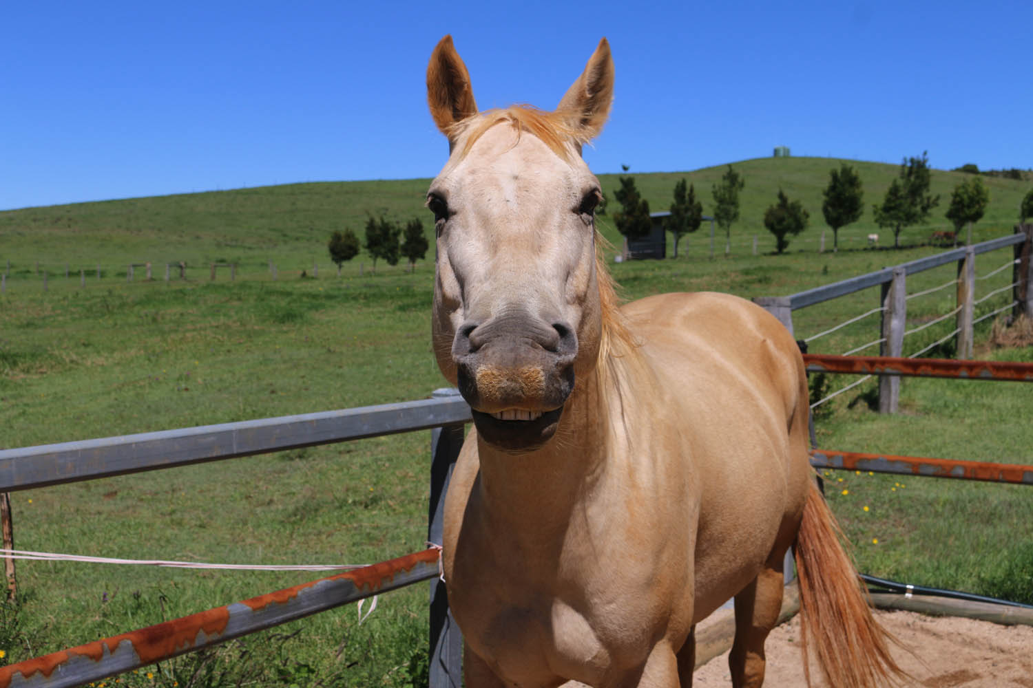
[[[868,593],[860,587],[840,536],[836,519],[812,483],[793,547],[807,684],[810,647],[829,686],[869,688],[896,684],[907,677],[889,655],[889,643],[897,641],[872,616]]]

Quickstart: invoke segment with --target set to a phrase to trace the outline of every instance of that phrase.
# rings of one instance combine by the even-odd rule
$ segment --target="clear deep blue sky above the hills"
[[[720,6],[718,6],[720,5]],[[434,176],[427,60],[552,107],[599,38],[597,173],[793,155],[1033,167],[1033,2],[7,2],[0,209]]]

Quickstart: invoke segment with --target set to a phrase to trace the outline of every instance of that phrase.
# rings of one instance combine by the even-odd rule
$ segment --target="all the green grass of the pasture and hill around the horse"
[[[799,168],[784,164],[789,162]],[[848,235],[878,231],[863,221],[842,230],[845,250],[818,254],[820,188],[835,164],[737,164],[757,197],[744,198],[731,258],[707,260],[707,241],[692,236],[678,260],[613,265],[625,296],[680,290],[785,295],[937,251],[851,243]],[[868,202],[878,200],[877,184],[887,185],[896,167],[855,165]],[[709,194],[722,172],[686,176]],[[660,207],[680,176],[636,175]],[[935,173],[934,186],[946,195],[954,176]],[[616,179],[603,184],[612,189]],[[784,256],[768,253],[774,239],[756,232],[761,253],[753,256],[756,230],[750,227],[759,221],[749,214],[762,211],[779,184],[805,199],[812,227]],[[976,226],[975,240],[1010,233],[1008,199],[1016,208],[1025,193],[1018,182],[988,184],[995,205]],[[433,266],[417,263],[409,274],[378,265],[370,275],[366,259],[363,276],[351,264],[337,277],[324,245],[334,229],[361,229],[367,211],[400,220],[420,216],[425,189],[426,181],[295,185],[0,214],[0,268],[5,259],[11,262],[0,297],[0,447],[429,395],[443,385],[429,337]],[[946,199],[941,203],[945,207]],[[930,231],[913,229],[907,243],[921,242]],[[208,281],[207,262],[216,259],[241,264],[236,282],[221,273]],[[980,256],[977,274],[1009,259],[1005,252]],[[45,292],[37,260],[50,271]],[[125,265],[144,260],[187,260],[196,267],[184,282],[166,285],[163,267],[155,281],[143,281],[137,271],[134,282],[126,282]],[[270,260],[281,266],[276,281]],[[320,263],[318,279],[308,269],[313,261]],[[64,279],[66,262],[73,279]],[[98,262],[103,277],[81,288],[77,266]],[[303,269],[310,276],[301,279]],[[953,270],[913,275],[909,291],[949,282]],[[976,296],[1009,282],[1005,269],[980,281]],[[811,336],[877,301],[877,290],[868,290],[799,310],[796,336]],[[1004,303],[1001,295],[978,313]],[[950,288],[916,298],[908,303],[908,327],[952,307]],[[1030,347],[992,350],[989,326],[977,330],[977,356],[1033,360]],[[942,323],[909,337],[905,353],[951,327]],[[811,351],[842,353],[877,333],[873,316],[816,340]],[[949,341],[938,353],[949,354]],[[843,384],[833,381],[832,389]],[[1029,385],[906,380],[903,413],[896,416],[871,411],[873,387],[863,385],[821,407],[821,447],[1033,463]],[[14,493],[17,546],[230,563],[379,561],[424,546],[429,439],[429,433],[396,435]],[[826,485],[866,572],[1033,602],[1028,488],[842,472],[826,477]],[[20,562],[18,604],[0,604],[0,664],[317,577]],[[345,608],[153,667],[150,678],[147,670],[129,675],[122,684],[420,685],[426,605],[427,587],[414,586],[386,595],[362,625],[355,609]]]

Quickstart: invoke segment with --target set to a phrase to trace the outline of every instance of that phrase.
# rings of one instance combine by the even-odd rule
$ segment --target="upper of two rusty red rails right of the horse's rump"
[[[804,354],[804,363],[807,365],[808,372],[1033,382],[1033,363],[1008,361],[954,361],[940,358]]]

